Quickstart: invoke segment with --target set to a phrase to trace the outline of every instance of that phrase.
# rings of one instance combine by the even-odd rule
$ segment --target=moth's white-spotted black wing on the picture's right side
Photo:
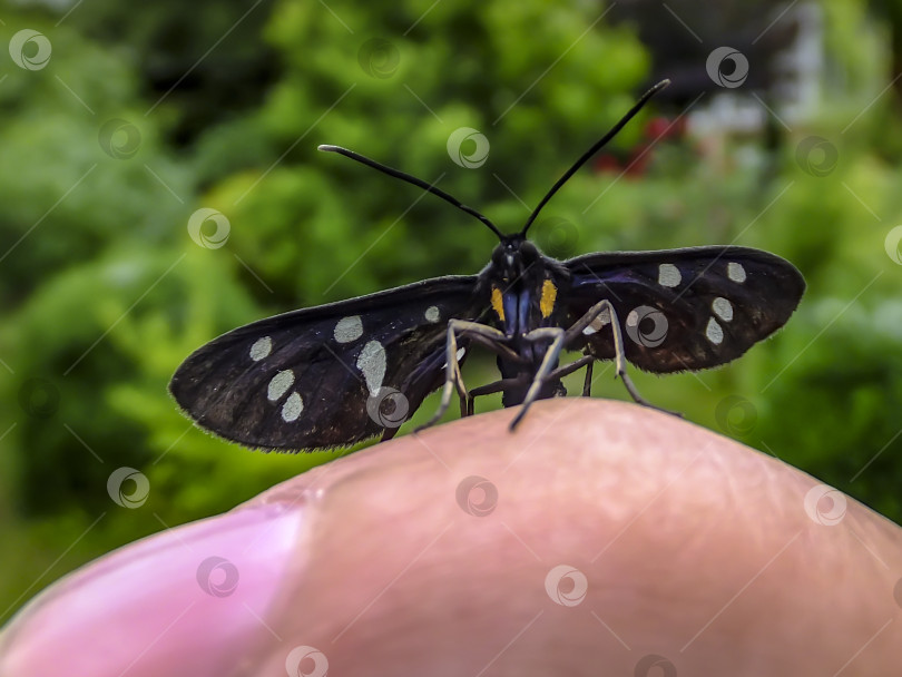
[[[569,326],[608,298],[619,316],[626,357],[669,373],[735,360],[783,326],[805,291],[787,261],[748,247],[590,254],[565,262]],[[587,327],[572,347],[614,357],[609,318]]]

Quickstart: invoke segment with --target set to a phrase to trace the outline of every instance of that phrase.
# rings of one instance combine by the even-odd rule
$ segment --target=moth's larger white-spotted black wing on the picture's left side
[[[427,279],[238,327],[189,355],[169,391],[198,425],[247,447],[391,436],[443,383],[448,320],[478,313],[475,279]]]

